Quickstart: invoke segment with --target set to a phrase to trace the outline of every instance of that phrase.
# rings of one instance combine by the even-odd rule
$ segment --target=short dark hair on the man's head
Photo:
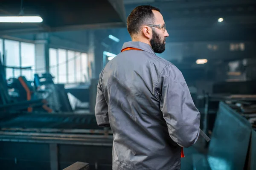
[[[137,34],[141,26],[154,24],[155,18],[152,10],[160,12],[159,8],[149,5],[137,6],[131,11],[127,17],[127,31],[131,36]]]

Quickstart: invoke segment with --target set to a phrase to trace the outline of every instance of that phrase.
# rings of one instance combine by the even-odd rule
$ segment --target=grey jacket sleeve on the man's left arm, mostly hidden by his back
[[[108,119],[108,104],[102,91],[101,81],[97,85],[97,96],[95,105],[95,116],[99,127],[107,127],[109,125]]]

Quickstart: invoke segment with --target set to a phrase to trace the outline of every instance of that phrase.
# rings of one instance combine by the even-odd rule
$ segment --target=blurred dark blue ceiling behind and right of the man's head
[[[256,38],[256,0],[124,0],[124,3],[127,15],[139,5],[160,8],[170,34],[168,41]],[[220,17],[224,21],[218,23]]]

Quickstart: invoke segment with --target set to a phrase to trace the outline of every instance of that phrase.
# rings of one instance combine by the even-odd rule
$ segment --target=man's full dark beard
[[[154,31],[154,29],[152,29],[153,31],[153,37],[150,40],[150,44],[152,46],[152,49],[155,53],[163,53],[163,51],[165,51],[165,38],[164,41],[161,42],[159,35]]]

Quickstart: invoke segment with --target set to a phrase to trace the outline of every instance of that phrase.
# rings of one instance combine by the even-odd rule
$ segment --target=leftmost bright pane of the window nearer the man
[[[52,77],[55,77],[53,79],[55,83],[58,83],[57,59],[57,49],[49,48],[50,74],[52,74]]]

